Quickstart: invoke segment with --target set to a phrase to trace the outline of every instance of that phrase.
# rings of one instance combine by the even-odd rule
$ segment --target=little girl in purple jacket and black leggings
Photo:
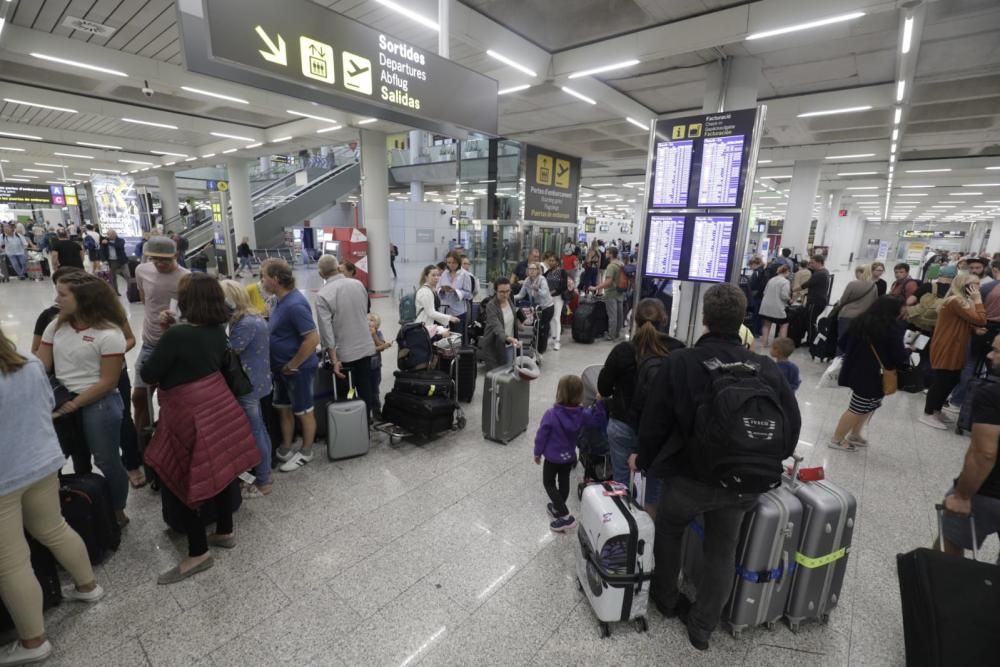
[[[607,421],[604,401],[597,401],[592,408],[581,407],[582,402],[583,381],[576,375],[559,378],[555,405],[545,412],[535,434],[535,463],[542,465],[542,484],[552,500],[548,504],[553,518],[549,528],[560,533],[576,526],[566,507],[569,473],[576,467],[576,437],[580,429]]]

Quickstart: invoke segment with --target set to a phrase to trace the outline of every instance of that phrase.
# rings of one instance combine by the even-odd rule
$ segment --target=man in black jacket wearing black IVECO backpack
[[[699,650],[708,648],[732,588],[743,515],[781,483],[782,462],[794,453],[802,425],[774,361],[740,343],[746,305],[736,285],[705,293],[708,332],[661,363],[639,423],[635,466],[663,480],[651,594],[664,616],[687,625]],[[677,575],[684,529],[698,515],[704,570],[692,604],[680,594]]]

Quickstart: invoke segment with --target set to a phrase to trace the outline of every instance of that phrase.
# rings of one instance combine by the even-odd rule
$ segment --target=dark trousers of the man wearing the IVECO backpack
[[[677,575],[681,569],[681,537],[698,514],[705,519],[701,580],[695,582],[697,600],[688,616],[688,629],[708,639],[719,624],[722,607],[733,587],[733,563],[743,515],[757,502],[755,493],[741,494],[722,487],[675,476],[663,481],[663,494],[656,510],[653,542],[652,592],[657,602],[671,608],[680,595]]]

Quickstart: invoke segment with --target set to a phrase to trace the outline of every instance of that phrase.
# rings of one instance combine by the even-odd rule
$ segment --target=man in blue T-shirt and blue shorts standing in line
[[[313,378],[319,366],[319,332],[309,301],[295,289],[295,277],[287,262],[265,261],[260,267],[260,279],[264,289],[276,297],[268,320],[274,407],[281,416],[281,447],[275,455],[283,461],[278,470],[291,472],[312,461],[316,439]],[[302,448],[298,451],[292,448],[296,417],[302,427]]]

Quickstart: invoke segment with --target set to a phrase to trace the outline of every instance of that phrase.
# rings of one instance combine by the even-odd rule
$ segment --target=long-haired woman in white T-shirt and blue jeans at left
[[[125,361],[125,309],[111,286],[89,273],[73,272],[56,283],[59,317],[45,328],[38,358],[71,393],[53,416],[80,411],[83,435],[111,488],[118,523],[128,523],[128,474],[122,465],[125,409],[118,379]]]

